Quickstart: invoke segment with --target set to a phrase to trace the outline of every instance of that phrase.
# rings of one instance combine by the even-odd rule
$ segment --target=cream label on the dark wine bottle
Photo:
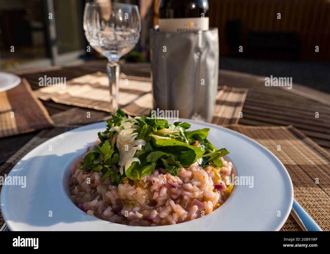
[[[161,32],[188,32],[209,30],[209,17],[196,18],[160,18]]]

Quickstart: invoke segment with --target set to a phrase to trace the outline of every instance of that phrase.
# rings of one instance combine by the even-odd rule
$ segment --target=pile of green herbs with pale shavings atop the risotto
[[[156,166],[173,176],[196,161],[202,166],[222,167],[220,157],[229,152],[213,147],[207,139],[210,129],[187,131],[189,128],[188,123],[169,124],[167,120],[146,116],[126,117],[118,109],[107,121],[107,129],[98,133],[101,143],[85,155],[79,169],[102,172],[103,181],[109,178],[118,185],[126,177],[141,180],[152,174]],[[130,132],[124,131],[127,129]],[[120,142],[118,147],[117,142]]]

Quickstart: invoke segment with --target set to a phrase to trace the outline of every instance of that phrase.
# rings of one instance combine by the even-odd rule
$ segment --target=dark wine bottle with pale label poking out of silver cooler
[[[161,0],[159,31],[186,32],[209,30],[207,0]]]

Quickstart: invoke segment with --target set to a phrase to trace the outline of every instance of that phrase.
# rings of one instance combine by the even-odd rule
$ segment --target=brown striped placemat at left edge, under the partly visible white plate
[[[52,127],[44,105],[36,98],[25,78],[0,93],[0,138]]]

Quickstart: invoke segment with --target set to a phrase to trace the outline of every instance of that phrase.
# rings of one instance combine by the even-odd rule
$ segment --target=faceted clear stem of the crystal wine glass
[[[110,82],[110,111],[115,113],[119,103],[119,64],[108,62],[107,71]]]

